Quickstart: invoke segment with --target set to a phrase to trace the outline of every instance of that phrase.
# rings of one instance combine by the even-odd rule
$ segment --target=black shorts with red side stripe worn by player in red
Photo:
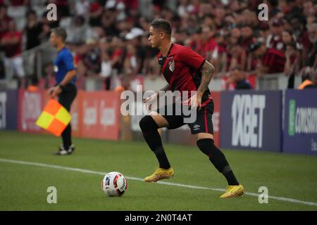
[[[168,129],[176,129],[178,127],[182,127],[184,124],[187,124],[190,128],[192,134],[198,133],[209,133],[213,134],[213,122],[212,122],[212,115],[213,115],[213,99],[211,96],[207,98],[205,101],[201,103],[201,109],[197,109],[197,117],[194,122],[185,122],[184,118],[188,117],[187,115],[181,115],[175,113],[175,104],[172,105],[173,107],[173,115],[166,115],[167,113],[167,106],[163,108],[159,108],[156,110],[157,113],[162,115],[166,121],[168,122],[169,126]],[[164,112],[164,113],[163,113]]]

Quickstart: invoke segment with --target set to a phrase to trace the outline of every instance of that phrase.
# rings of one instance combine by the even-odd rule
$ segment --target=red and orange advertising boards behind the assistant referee
[[[74,136],[118,140],[119,99],[116,91],[78,91],[70,111]],[[47,133],[35,121],[48,100],[46,91],[18,91],[18,131]]]

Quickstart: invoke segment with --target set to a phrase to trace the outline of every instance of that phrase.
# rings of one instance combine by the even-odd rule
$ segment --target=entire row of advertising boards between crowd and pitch
[[[287,90],[284,98],[282,94],[282,91],[213,92],[216,145],[317,155],[317,90]],[[46,91],[0,91],[0,129],[47,134],[35,121],[48,99]],[[143,141],[139,129],[142,116],[121,115],[121,102],[120,92],[78,91],[70,112],[73,135]],[[135,101],[132,107],[137,104],[142,103]],[[162,140],[195,145],[187,126],[163,129]]]

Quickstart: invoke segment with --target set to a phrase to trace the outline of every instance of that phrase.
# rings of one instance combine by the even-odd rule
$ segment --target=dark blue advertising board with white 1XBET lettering
[[[280,152],[282,91],[222,91],[222,148]]]

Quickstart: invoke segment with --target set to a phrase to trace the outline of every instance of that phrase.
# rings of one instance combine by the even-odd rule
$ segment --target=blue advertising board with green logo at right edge
[[[317,90],[285,91],[283,152],[317,155]]]

